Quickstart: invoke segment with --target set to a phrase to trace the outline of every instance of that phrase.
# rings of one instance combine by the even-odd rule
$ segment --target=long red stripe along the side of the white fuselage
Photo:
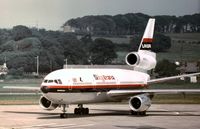
[[[146,87],[146,84],[115,84],[115,85],[62,85],[62,86],[48,86],[49,89],[119,89],[119,88],[143,88]]]

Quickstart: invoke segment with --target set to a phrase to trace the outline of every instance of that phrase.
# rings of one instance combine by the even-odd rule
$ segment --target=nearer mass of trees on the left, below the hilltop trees
[[[117,57],[110,40],[90,35],[78,39],[73,33],[46,31],[18,25],[0,29],[0,64],[7,63],[10,73],[36,71],[39,56],[40,72],[50,72],[68,64],[111,64]]]

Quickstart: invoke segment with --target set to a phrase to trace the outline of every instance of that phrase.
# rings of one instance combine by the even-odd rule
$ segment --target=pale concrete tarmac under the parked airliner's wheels
[[[200,105],[153,104],[147,116],[129,114],[128,104],[92,104],[89,115],[61,119],[59,109],[42,110],[39,105],[1,105],[0,129],[199,129]]]

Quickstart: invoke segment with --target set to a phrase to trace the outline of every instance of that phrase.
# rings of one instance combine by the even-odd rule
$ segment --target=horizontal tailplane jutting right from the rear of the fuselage
[[[197,75],[200,75],[200,73],[183,74],[183,75],[178,75],[178,76],[157,78],[157,79],[152,79],[152,80],[147,81],[147,84],[166,82],[166,81],[169,81],[169,80],[175,80],[175,79],[179,79],[179,78],[182,78],[182,77],[191,77],[191,76],[197,76]]]

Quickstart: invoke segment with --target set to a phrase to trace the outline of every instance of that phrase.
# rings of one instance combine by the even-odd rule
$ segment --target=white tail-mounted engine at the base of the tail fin
[[[151,70],[156,66],[156,54],[151,51],[130,52],[125,60],[128,65],[144,70]]]

